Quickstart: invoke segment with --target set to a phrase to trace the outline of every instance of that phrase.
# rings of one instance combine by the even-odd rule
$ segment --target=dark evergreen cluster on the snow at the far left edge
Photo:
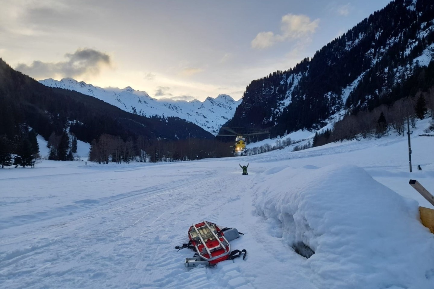
[[[39,145],[35,130],[27,125],[20,125],[19,133],[8,138],[0,136],[0,167],[26,166],[34,167],[39,156]]]

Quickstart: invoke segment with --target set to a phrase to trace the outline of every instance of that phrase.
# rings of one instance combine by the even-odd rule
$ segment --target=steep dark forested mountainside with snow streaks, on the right
[[[356,114],[414,97],[432,86],[433,78],[423,74],[434,55],[433,19],[431,0],[389,3],[312,59],[252,81],[225,126],[269,129],[271,137],[283,136],[319,129],[342,110]]]

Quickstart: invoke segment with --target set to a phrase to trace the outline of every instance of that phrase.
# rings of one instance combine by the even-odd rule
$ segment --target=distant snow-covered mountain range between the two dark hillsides
[[[83,81],[78,82],[72,78],[63,78],[60,81],[48,78],[39,82],[49,87],[78,91],[101,99],[122,110],[146,117],[152,115],[180,117],[197,124],[214,135],[217,135],[220,127],[233,117],[235,109],[241,103],[241,100],[234,101],[227,94],[220,94],[216,98],[207,97],[204,102],[198,100],[172,101],[154,99],[145,91],[136,91],[129,86],[124,89],[100,88]]]

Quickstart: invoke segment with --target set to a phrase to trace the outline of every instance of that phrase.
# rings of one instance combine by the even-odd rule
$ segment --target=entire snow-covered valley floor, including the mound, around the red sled
[[[0,288],[433,289],[434,137],[331,143],[176,163],[43,161],[0,170]],[[249,162],[249,175],[239,163]],[[417,165],[422,170],[416,169]],[[186,269],[192,223],[247,257]],[[294,244],[315,253],[297,254]]]

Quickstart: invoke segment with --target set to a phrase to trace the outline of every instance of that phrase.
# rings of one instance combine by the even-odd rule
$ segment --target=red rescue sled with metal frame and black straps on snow
[[[214,266],[218,262],[240,257],[241,253],[244,253],[243,259],[246,257],[246,250],[230,251],[229,241],[239,238],[240,234],[242,233],[235,228],[220,227],[214,223],[202,221],[191,225],[188,230],[190,239],[188,244],[183,244],[182,247],[176,246],[175,249],[191,248],[196,251],[193,258],[185,259],[186,267]]]

